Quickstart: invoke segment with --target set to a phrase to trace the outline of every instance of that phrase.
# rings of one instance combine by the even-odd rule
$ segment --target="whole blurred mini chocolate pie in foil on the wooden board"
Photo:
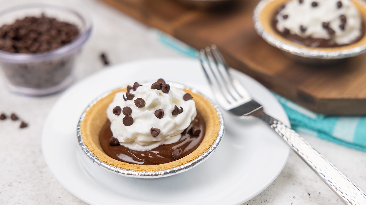
[[[264,40],[295,59],[336,62],[366,51],[362,0],[262,0],[253,19]]]

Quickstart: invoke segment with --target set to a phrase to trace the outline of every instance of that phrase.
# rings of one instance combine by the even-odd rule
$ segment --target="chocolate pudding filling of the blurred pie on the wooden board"
[[[323,38],[302,38],[301,36],[299,35],[296,35],[296,34],[291,34],[290,31],[288,29],[285,29],[284,32],[281,32],[277,29],[277,15],[280,13],[280,11],[282,9],[284,9],[285,5],[281,6],[276,12],[275,14],[273,15],[272,17],[272,27],[273,29],[278,33],[280,34],[281,36],[283,36],[284,38],[287,38],[288,40],[291,40],[292,42],[294,43],[298,43],[298,44],[301,44],[301,45],[304,45],[304,46],[309,46],[309,47],[339,47],[339,46],[346,46],[346,45],[351,45],[352,43],[355,43],[355,42],[358,42],[359,40],[362,39],[363,36],[365,36],[365,21],[362,20],[362,34],[352,40],[350,43],[347,43],[347,44],[337,44],[334,40],[332,39],[323,39]],[[284,19],[286,19],[287,17],[286,16],[283,16]],[[329,25],[329,23],[328,23]],[[323,23],[323,28],[324,29],[328,29],[328,33],[329,34],[334,34],[334,30],[332,30],[331,28],[327,28],[327,25],[326,25],[326,22]],[[344,27],[344,25],[343,25]],[[306,31],[306,27],[303,27],[303,26],[300,26],[299,29],[302,31],[302,32],[305,32]]]

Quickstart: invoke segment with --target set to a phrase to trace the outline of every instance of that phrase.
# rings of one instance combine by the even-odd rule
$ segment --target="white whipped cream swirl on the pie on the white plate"
[[[183,89],[171,86],[168,93],[162,90],[151,89],[152,83],[142,84],[135,91],[132,100],[124,100],[124,92],[116,93],[113,101],[107,108],[107,117],[111,121],[111,131],[113,136],[118,139],[120,145],[131,150],[150,150],[161,144],[171,144],[178,142],[181,133],[186,129],[197,115],[195,102],[193,100],[183,100]],[[134,100],[142,98],[145,106],[139,108]],[[183,112],[173,115],[175,105],[183,108]],[[113,108],[119,106],[121,109],[130,107],[133,123],[130,126],[123,124],[125,115],[113,114]],[[164,116],[159,119],[155,115],[158,109],[164,110]],[[151,128],[160,129],[160,133],[152,136]]]

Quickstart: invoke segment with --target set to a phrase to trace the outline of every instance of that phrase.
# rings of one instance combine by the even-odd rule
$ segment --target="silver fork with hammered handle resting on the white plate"
[[[366,194],[332,165],[294,130],[267,115],[238,80],[233,78],[216,45],[197,53],[216,101],[229,113],[246,118],[254,116],[268,124],[304,162],[348,205],[366,205]]]

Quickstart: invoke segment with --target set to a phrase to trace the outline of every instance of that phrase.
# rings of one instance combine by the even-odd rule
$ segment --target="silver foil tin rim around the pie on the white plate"
[[[171,85],[171,86],[177,87],[177,88],[182,88],[182,89],[188,88],[188,89],[191,89],[191,88],[189,88],[187,86],[184,86],[184,85],[178,84],[178,83],[168,82],[168,84]],[[127,85],[124,86],[124,87],[121,87],[121,88],[126,88],[126,87],[127,87]],[[116,89],[118,89],[118,88],[116,88]],[[115,89],[112,89],[112,90],[115,90]],[[222,137],[224,135],[224,119],[223,119],[223,115],[222,115],[222,112],[221,112],[220,108],[216,104],[214,104],[208,97],[206,97],[202,93],[199,93],[197,90],[195,90],[195,89],[191,89],[191,90],[194,93],[201,94],[207,101],[209,101],[210,104],[212,105],[212,107],[216,110],[217,115],[219,116],[219,132],[217,134],[216,140],[213,142],[213,144],[211,145],[211,147],[208,150],[206,150],[205,152],[203,152],[203,154],[201,154],[200,156],[198,156],[194,160],[191,160],[188,163],[185,163],[185,164],[180,165],[180,166],[177,166],[177,167],[173,167],[171,169],[166,169],[166,170],[158,170],[158,171],[135,171],[135,170],[122,169],[120,167],[116,167],[116,166],[110,165],[110,164],[108,164],[106,162],[103,162],[97,156],[95,156],[93,154],[93,152],[91,152],[89,150],[89,148],[83,142],[83,139],[82,139],[82,136],[81,136],[81,122],[83,121],[83,119],[86,116],[86,111],[89,110],[94,104],[96,104],[96,102],[98,100],[100,100],[101,98],[104,98],[105,96],[107,96],[112,91],[109,91],[109,92],[106,92],[106,93],[102,94],[96,100],[94,100],[93,102],[91,102],[91,104],[88,105],[88,107],[85,109],[85,111],[82,113],[82,115],[81,115],[81,117],[79,119],[79,123],[78,123],[78,127],[77,127],[77,137],[78,137],[78,142],[79,142],[79,145],[80,145],[83,153],[94,164],[96,164],[97,166],[101,167],[102,169],[106,169],[106,170],[108,170],[108,171],[110,171],[112,173],[115,173],[117,175],[122,175],[122,176],[125,176],[125,177],[132,177],[132,178],[162,178],[162,177],[168,177],[168,176],[171,176],[171,175],[179,174],[179,173],[182,173],[184,171],[190,170],[193,167],[199,165],[204,160],[206,160],[210,155],[212,155],[212,153],[216,150],[217,146],[219,146],[219,143],[221,142],[221,139],[222,139]]]

